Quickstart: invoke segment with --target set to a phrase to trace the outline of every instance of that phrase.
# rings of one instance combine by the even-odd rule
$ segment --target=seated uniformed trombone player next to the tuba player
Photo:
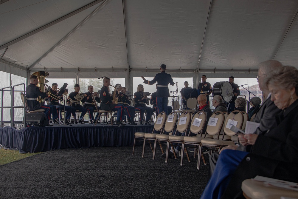
[[[57,110],[60,112],[60,110],[65,110],[65,123],[66,124],[70,124],[69,120],[70,117],[71,117],[71,114],[73,115],[73,117],[75,117],[75,108],[71,107],[71,106],[65,106],[60,104],[60,102],[63,103],[63,95],[61,96],[58,96],[58,91],[57,91],[57,87],[58,87],[58,84],[57,83],[53,83],[52,84],[52,88],[49,90],[48,92],[48,98],[49,98],[49,104],[50,105],[54,105]],[[60,119],[62,118],[61,117],[61,112],[59,114],[59,117]]]

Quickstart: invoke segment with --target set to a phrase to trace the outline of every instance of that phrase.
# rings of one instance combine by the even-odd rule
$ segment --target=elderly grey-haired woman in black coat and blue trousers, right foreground
[[[201,198],[241,197],[242,181],[256,175],[298,182],[298,70],[282,67],[264,82],[271,101],[284,110],[276,116],[277,126],[259,135],[238,135],[250,151],[222,151]]]

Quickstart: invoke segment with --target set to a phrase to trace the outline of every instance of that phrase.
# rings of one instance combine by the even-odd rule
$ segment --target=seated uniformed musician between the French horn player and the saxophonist
[[[90,123],[92,123],[92,121],[93,121],[93,123],[95,124],[97,118],[99,117],[99,112],[97,112],[97,114],[95,115],[95,118],[94,118],[93,112],[94,112],[94,110],[96,110],[96,107],[95,107],[95,104],[93,102],[92,95],[94,95],[95,100],[98,103],[100,103],[100,98],[98,97],[97,92],[93,93],[93,86],[90,85],[88,87],[88,92],[84,93],[84,96],[85,96],[84,108],[87,109],[87,111],[89,112]],[[99,107],[97,107],[97,109],[99,109]]]

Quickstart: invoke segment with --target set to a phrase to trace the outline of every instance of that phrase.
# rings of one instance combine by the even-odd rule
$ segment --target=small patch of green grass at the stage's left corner
[[[38,153],[19,153],[17,150],[0,149],[0,165],[7,164],[13,161],[21,160]]]

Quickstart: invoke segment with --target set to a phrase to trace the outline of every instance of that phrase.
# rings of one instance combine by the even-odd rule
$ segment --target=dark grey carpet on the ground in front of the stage
[[[199,198],[208,164],[183,166],[150,146],[52,150],[0,166],[0,198]],[[193,153],[191,153],[193,154]],[[208,161],[208,155],[205,156]]]

